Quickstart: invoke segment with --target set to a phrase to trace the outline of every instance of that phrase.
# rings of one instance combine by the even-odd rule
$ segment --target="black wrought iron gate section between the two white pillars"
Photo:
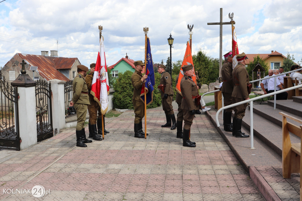
[[[37,140],[40,142],[53,136],[51,85],[47,81],[37,80],[36,113]]]

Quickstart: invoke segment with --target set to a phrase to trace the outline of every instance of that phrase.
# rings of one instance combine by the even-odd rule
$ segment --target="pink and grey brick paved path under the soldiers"
[[[177,112],[175,110],[175,112]],[[106,119],[103,141],[76,147],[75,129],[0,159],[6,200],[264,200],[205,114],[196,115],[182,146],[161,128],[162,109],[148,110],[147,139],[134,138],[133,111]],[[88,133],[88,127],[86,128]],[[3,194],[42,185],[50,194]]]

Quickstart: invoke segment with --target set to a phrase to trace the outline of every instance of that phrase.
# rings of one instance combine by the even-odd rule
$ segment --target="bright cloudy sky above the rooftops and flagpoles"
[[[2,1],[2,2],[1,2]],[[60,57],[77,57],[89,67],[96,62],[98,26],[103,26],[108,66],[127,55],[144,60],[145,34],[149,27],[153,62],[170,56],[167,38],[174,38],[172,62],[183,59],[189,40],[187,25],[194,24],[192,54],[199,50],[219,58],[220,21],[234,13],[239,52],[271,53],[302,58],[302,1],[180,1],[180,0],[0,0],[0,66],[15,53],[40,55],[58,50]],[[223,25],[222,55],[231,50],[231,25]]]

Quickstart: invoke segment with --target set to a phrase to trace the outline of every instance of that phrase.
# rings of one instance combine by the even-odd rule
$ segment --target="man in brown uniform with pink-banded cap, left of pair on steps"
[[[221,87],[221,92],[223,95],[223,101],[224,101],[224,106],[231,105],[232,104],[232,93],[233,93],[233,77],[232,77],[232,72],[233,72],[233,57],[232,57],[232,51],[226,53],[224,56],[224,64],[222,65],[221,68],[221,77],[222,77],[222,87]],[[223,125],[224,125],[224,130],[226,132],[232,132],[232,111],[233,108],[228,108],[224,111],[224,116],[223,116]]]

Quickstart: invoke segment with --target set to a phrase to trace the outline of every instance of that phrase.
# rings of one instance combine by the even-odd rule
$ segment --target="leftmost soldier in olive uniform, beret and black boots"
[[[86,139],[84,123],[86,119],[87,106],[90,105],[88,97],[88,88],[84,77],[88,68],[85,65],[77,65],[78,75],[73,80],[73,96],[70,106],[74,106],[77,115],[76,124],[76,146],[87,147],[85,143],[91,143],[92,140]]]

